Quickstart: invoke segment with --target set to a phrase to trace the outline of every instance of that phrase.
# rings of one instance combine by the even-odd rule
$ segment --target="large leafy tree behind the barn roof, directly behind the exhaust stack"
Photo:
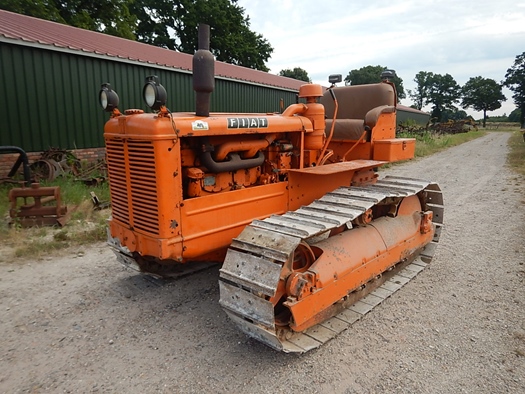
[[[250,18],[237,0],[135,0],[138,41],[194,53],[199,23],[210,26],[210,51],[217,60],[269,71],[273,48],[250,30]],[[170,34],[172,32],[172,34]]]

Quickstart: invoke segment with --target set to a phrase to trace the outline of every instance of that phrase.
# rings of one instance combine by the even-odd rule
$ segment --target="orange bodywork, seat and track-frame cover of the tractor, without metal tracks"
[[[329,124],[318,85],[301,88],[306,103],[282,114],[114,112],[104,134],[112,237],[135,257],[164,265],[214,261],[253,220],[297,210],[340,186],[374,184],[377,167],[413,157],[414,140],[395,138],[389,84],[335,91],[339,104]],[[354,91],[368,96],[360,100]],[[283,324],[310,327],[430,242],[432,214],[421,212],[418,197],[388,204],[368,209],[358,228],[338,224],[328,239],[303,245],[295,262],[283,264],[269,297],[290,311]]]

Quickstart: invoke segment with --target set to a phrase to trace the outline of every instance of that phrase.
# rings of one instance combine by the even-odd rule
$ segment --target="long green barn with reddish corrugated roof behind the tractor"
[[[100,85],[111,84],[121,109],[149,110],[142,87],[147,76],[157,75],[168,92],[168,108],[192,112],[192,58],[0,10],[0,146],[26,152],[55,147],[74,150],[79,158],[101,158],[108,114],[98,104]],[[222,62],[215,63],[215,74],[211,111],[217,112],[276,112],[281,100],[294,103],[304,84]],[[2,156],[8,155],[0,155],[0,173],[13,160]]]

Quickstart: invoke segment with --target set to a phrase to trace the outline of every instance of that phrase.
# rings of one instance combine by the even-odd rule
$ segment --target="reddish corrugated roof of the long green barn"
[[[0,39],[40,44],[82,53],[147,64],[192,69],[192,55],[137,41],[0,10]],[[6,40],[2,40],[6,41]],[[52,48],[50,48],[52,49]],[[215,62],[215,75],[263,85],[299,90],[305,82],[233,64]]]

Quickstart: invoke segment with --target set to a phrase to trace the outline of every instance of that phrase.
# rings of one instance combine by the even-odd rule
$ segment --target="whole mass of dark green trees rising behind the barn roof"
[[[190,54],[206,23],[217,60],[262,71],[273,52],[237,0],[0,0],[0,8]]]

